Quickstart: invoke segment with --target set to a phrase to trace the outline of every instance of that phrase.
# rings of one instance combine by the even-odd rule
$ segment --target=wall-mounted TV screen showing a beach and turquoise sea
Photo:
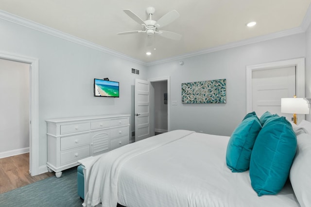
[[[94,96],[119,97],[119,82],[94,79]]]

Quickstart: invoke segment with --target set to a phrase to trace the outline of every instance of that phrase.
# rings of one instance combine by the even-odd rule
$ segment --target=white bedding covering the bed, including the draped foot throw
[[[299,207],[290,184],[277,195],[258,197],[249,171],[232,173],[225,163],[228,140],[175,130],[106,153],[91,169],[86,204]]]

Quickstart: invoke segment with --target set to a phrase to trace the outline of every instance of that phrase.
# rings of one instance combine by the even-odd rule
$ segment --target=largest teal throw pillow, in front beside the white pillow
[[[296,153],[297,139],[285,117],[269,118],[255,141],[249,167],[258,196],[277,194],[284,186]]]

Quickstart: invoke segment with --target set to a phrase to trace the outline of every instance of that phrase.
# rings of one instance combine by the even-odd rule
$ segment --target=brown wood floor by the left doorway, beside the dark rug
[[[54,173],[47,172],[35,176],[29,174],[29,153],[0,159],[0,193],[12,191],[51,176],[54,176]]]

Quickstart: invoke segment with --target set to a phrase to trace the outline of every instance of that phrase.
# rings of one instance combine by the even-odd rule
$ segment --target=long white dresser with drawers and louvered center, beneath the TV
[[[56,177],[79,165],[77,160],[96,156],[129,143],[128,114],[48,119],[49,172]]]

